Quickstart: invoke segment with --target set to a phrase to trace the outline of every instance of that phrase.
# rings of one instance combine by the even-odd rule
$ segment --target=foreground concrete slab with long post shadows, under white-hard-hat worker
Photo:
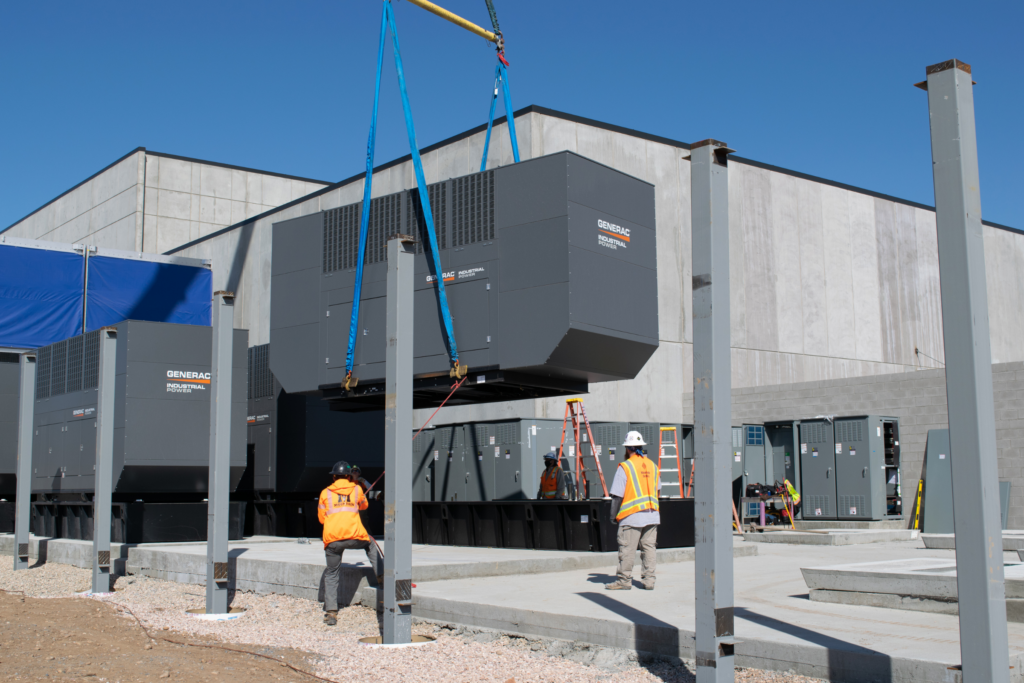
[[[740,547],[745,546],[738,542]],[[870,546],[872,556],[912,559],[920,541]],[[736,664],[853,683],[958,681],[957,618],[811,602],[802,566],[853,563],[858,546],[759,544],[735,561]],[[940,551],[940,560],[951,552]],[[657,588],[606,593],[610,569],[424,582],[414,591],[422,618],[510,633],[693,657],[694,565],[658,567]],[[639,582],[634,584],[639,586]],[[368,595],[368,599],[370,596]],[[1010,624],[1011,680],[1022,681],[1024,625]]]

